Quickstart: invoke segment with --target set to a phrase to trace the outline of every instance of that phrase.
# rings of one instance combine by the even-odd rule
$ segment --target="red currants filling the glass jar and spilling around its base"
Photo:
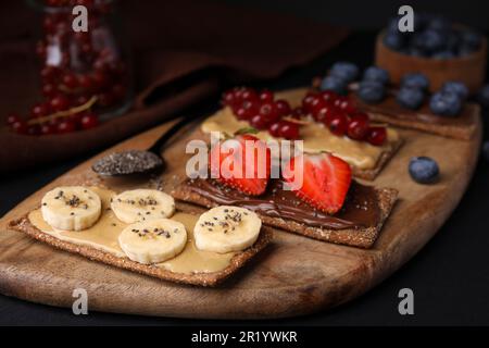
[[[127,69],[105,16],[112,1],[45,0],[40,61],[41,94],[27,117],[16,113],[7,123],[20,134],[49,135],[88,129],[99,124],[97,112],[120,105],[127,97]],[[88,8],[88,32],[72,29],[72,8]]]

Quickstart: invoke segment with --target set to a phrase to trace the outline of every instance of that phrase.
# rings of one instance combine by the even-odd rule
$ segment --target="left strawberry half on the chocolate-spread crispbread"
[[[247,195],[258,196],[265,191],[268,183],[271,151],[265,141],[249,134],[238,135],[211,149],[210,167],[211,177]]]

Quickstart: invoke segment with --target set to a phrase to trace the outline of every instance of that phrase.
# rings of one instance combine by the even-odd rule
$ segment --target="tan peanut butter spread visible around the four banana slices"
[[[28,215],[30,223],[38,229],[61,240],[76,245],[89,246],[98,250],[112,253],[120,258],[125,258],[124,251],[118,245],[118,235],[127,224],[117,220],[110,209],[110,201],[116,194],[112,190],[90,187],[97,192],[102,201],[102,213],[99,221],[90,228],[84,231],[60,231],[51,227],[43,219],[40,209],[32,211]],[[227,268],[235,252],[216,253],[201,251],[196,248],[193,241],[193,226],[198,220],[197,215],[177,212],[172,220],[185,225],[187,231],[187,245],[175,258],[156,264],[175,273],[211,273],[218,272]]]

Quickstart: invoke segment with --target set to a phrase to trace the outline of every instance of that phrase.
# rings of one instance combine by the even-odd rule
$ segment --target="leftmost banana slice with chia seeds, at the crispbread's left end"
[[[42,197],[42,219],[53,228],[82,231],[91,227],[100,217],[100,197],[82,186],[62,186]]]

